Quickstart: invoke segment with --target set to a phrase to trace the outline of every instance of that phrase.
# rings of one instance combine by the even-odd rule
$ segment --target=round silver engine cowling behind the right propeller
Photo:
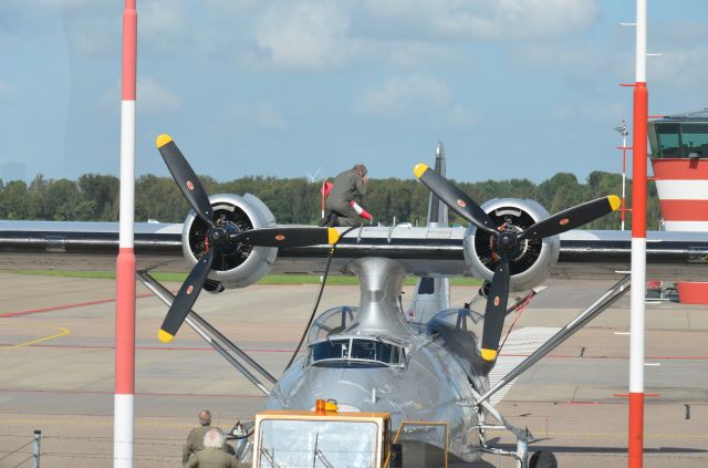
[[[518,198],[494,198],[481,206],[497,226],[511,221],[514,229],[524,230],[544,219],[549,212],[534,200]],[[494,239],[470,225],[465,232],[465,262],[470,272],[491,281],[498,263]],[[524,240],[509,259],[511,288],[528,290],[541,283],[549,274],[549,268],[555,266],[561,251],[561,240],[552,236],[543,240]]]

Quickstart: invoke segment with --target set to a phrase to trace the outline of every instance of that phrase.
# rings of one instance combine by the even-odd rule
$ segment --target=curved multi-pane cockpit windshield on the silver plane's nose
[[[326,340],[310,345],[310,364],[324,361],[375,363],[397,366],[404,362],[405,351],[378,339]]]

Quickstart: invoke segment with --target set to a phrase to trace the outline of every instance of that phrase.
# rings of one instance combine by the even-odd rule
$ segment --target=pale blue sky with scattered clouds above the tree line
[[[649,113],[708,106],[708,2],[648,0]],[[633,0],[137,0],[136,173],[618,171]],[[0,177],[117,175],[123,0],[0,1]]]

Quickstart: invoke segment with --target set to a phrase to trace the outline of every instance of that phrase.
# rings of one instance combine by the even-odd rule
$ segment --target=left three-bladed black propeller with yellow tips
[[[235,251],[239,245],[262,247],[305,247],[335,243],[340,232],[334,228],[263,228],[235,232],[232,228],[215,220],[214,210],[201,181],[169,135],[159,135],[157,149],[169,168],[175,183],[195,212],[207,225],[205,253],[179,289],[167,311],[157,337],[169,343],[195,304],[211,271],[216,258]]]

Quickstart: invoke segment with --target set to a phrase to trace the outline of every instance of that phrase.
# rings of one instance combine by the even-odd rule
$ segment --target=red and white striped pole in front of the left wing
[[[116,260],[115,396],[113,466],[133,467],[135,398],[135,69],[137,11],[125,0],[123,12],[123,97],[121,103],[121,235]]]

